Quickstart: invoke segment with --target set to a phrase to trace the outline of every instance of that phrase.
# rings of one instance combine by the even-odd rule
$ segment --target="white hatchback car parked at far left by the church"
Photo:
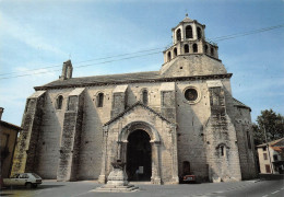
[[[10,178],[3,178],[4,186],[26,186],[36,188],[43,183],[43,178],[35,173],[14,174]]]

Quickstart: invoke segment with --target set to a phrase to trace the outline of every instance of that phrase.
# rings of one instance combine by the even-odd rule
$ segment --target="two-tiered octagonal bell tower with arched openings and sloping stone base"
[[[205,39],[205,25],[186,18],[171,28],[173,45],[163,51],[161,74],[168,77],[226,73],[216,44]],[[182,69],[182,70],[181,70]]]

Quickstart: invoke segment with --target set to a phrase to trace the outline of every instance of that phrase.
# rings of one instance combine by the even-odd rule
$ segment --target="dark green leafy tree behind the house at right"
[[[255,144],[265,142],[264,128],[267,131],[268,142],[284,137],[284,116],[276,114],[272,109],[261,111],[257,118],[258,124],[252,125],[255,135]]]

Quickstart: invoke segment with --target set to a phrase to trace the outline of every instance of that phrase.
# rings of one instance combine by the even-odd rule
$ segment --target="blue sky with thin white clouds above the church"
[[[170,30],[186,13],[214,38],[284,24],[283,10],[283,0],[0,0],[2,120],[21,125],[33,86],[58,79],[69,58],[73,77],[159,70],[157,51],[171,43]],[[252,120],[267,108],[284,115],[283,40],[284,27],[217,43],[233,73],[233,96],[252,108]],[[81,62],[153,48],[157,54]],[[92,66],[76,68],[86,63]]]

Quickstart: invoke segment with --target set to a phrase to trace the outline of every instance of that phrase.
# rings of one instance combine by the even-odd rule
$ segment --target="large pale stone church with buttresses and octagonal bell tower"
[[[255,177],[251,109],[233,97],[204,30],[188,16],[171,28],[158,71],[72,78],[63,62],[26,100],[12,173],[105,183],[120,159],[129,181],[152,184]]]

